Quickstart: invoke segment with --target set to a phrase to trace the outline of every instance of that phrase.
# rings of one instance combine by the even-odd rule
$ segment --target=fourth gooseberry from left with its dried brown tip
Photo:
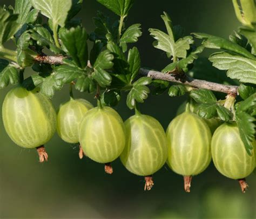
[[[126,145],[120,156],[125,168],[139,176],[156,173],[167,159],[166,135],[161,124],[139,113],[125,121],[125,128]],[[146,185],[148,190],[152,186],[152,183]]]

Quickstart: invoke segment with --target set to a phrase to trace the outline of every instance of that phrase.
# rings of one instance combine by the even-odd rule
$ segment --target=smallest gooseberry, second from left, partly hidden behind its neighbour
[[[57,132],[62,140],[68,143],[78,143],[79,125],[85,113],[93,108],[92,104],[84,99],[70,98],[60,105],[57,114]]]

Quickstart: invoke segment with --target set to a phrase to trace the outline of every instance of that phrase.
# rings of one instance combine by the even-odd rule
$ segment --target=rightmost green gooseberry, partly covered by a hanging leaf
[[[226,122],[217,128],[212,136],[213,163],[218,171],[228,178],[241,180],[253,172],[254,150],[251,152],[252,156],[246,152],[235,123]],[[242,188],[242,191],[245,189]]]

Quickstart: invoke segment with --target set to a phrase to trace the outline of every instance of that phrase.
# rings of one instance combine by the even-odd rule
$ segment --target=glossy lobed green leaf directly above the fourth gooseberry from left
[[[150,83],[151,78],[142,77],[133,84],[133,87],[126,99],[126,105],[131,110],[135,107],[136,102],[144,102],[147,98],[147,95],[150,93],[150,89],[146,85],[149,85]]]

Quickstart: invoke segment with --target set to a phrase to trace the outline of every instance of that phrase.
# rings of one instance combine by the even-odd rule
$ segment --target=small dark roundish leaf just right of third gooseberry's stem
[[[106,90],[100,95],[102,104],[106,106],[116,106],[121,99],[121,93],[118,90]]]

